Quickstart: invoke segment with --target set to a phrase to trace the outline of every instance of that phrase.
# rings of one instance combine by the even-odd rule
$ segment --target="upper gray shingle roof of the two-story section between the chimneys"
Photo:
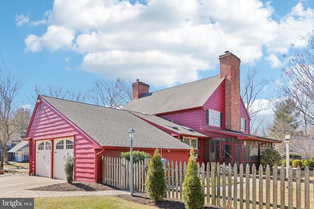
[[[201,107],[223,82],[220,75],[144,94],[133,99],[123,109],[156,115],[177,110]]]

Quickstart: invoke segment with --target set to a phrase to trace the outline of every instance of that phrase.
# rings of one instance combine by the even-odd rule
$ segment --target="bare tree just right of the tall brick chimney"
[[[262,100],[258,100],[259,95],[268,83],[266,78],[257,80],[257,70],[248,69],[246,71],[246,79],[242,83],[244,86],[241,88],[241,97],[245,104],[245,108],[251,118],[250,133],[252,135],[261,134],[264,118],[259,115],[263,110],[268,110],[268,103],[265,104]]]

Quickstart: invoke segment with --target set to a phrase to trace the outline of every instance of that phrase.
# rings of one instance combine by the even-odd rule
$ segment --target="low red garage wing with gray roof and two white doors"
[[[128,130],[135,130],[133,150],[187,161],[190,146],[181,138],[208,138],[158,116],[38,96],[26,133],[29,175],[66,179],[64,163],[75,156],[74,181],[102,182],[102,156],[130,151]]]

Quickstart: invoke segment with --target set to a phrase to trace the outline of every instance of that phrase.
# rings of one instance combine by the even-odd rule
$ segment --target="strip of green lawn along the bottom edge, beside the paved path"
[[[75,196],[34,198],[35,209],[154,209],[114,196]]]

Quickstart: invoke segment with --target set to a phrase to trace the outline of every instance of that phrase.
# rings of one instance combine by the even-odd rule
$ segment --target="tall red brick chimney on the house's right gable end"
[[[220,77],[225,77],[226,129],[240,131],[240,59],[225,51],[219,56]]]

